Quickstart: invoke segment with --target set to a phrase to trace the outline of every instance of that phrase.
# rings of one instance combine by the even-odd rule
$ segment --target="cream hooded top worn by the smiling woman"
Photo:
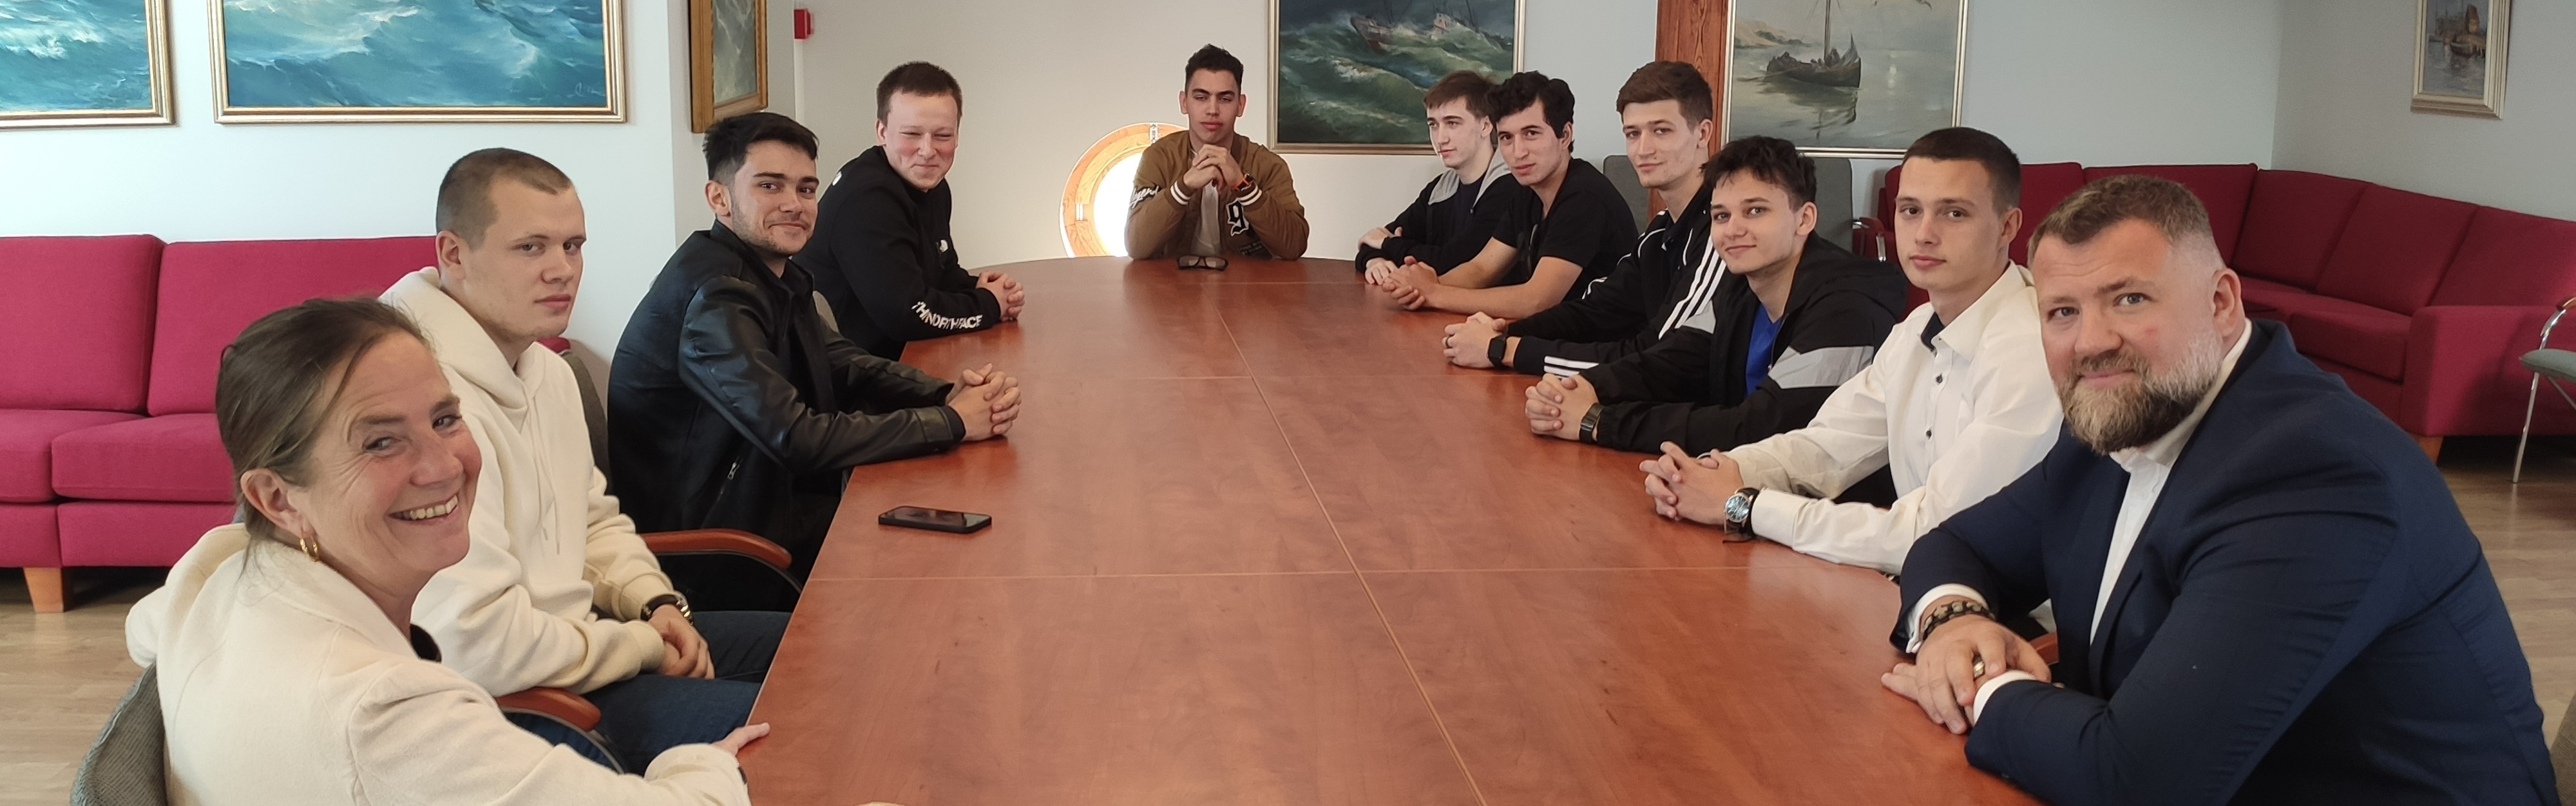
[[[126,613],[160,664],[170,803],[750,803],[734,754],[680,744],[616,775],[513,726],[348,577],[219,525]]]

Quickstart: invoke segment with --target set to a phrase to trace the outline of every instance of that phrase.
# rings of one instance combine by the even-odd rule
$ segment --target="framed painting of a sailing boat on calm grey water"
[[[1734,0],[1726,139],[1896,157],[1958,126],[1968,0]]]

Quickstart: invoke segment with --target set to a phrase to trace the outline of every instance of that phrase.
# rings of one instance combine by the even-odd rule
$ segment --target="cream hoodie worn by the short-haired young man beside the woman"
[[[513,371],[438,288],[435,268],[397,281],[384,304],[430,337],[484,461],[466,520],[474,546],[430,577],[412,623],[438,639],[451,670],[495,695],[590,693],[659,667],[662,636],[636,618],[672,592],[670,577],[592,466],[572,366],[528,345]]]

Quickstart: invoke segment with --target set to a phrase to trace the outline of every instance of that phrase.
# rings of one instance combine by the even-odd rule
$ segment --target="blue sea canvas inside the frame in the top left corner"
[[[144,0],[0,0],[0,113],[152,108]]]

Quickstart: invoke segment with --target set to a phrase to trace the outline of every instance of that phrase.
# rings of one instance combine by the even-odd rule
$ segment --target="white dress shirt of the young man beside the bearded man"
[[[1888,330],[1878,361],[1842,381],[1806,427],[1726,451],[1744,484],[1762,489],[1754,536],[1893,574],[1914,538],[2048,456],[2061,407],[2030,270],[2004,268],[1927,340],[1932,319],[1924,304]],[[1891,507],[1829,500],[1880,466],[1896,479]]]

